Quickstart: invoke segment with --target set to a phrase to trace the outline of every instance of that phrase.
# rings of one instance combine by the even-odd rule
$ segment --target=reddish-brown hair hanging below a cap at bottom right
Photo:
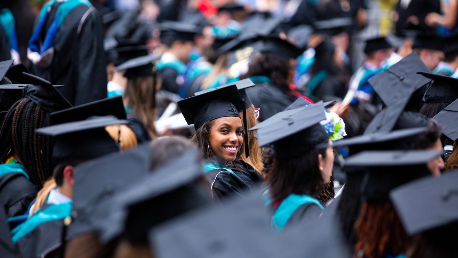
[[[396,256],[405,253],[410,246],[410,238],[391,202],[363,202],[354,226],[358,236],[354,257]]]

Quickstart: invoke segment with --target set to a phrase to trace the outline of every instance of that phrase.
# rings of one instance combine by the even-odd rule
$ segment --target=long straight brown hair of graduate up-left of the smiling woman
[[[153,139],[158,135],[154,127],[157,117],[157,83],[153,76],[129,79],[123,95],[124,104],[132,108],[135,116],[146,125],[148,134]]]

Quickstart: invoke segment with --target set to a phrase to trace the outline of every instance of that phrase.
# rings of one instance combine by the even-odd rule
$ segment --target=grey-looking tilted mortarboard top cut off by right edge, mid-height
[[[433,119],[441,124],[442,134],[452,139],[453,141],[458,140],[458,127],[456,121],[458,118],[458,99],[453,101],[452,104],[448,105],[441,112],[439,112]]]

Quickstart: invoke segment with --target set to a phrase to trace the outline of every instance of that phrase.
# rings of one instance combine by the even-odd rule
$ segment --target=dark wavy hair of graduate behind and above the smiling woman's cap
[[[240,79],[252,76],[267,76],[281,90],[289,93],[288,76],[291,70],[289,59],[269,53],[259,53],[251,57],[248,72]]]

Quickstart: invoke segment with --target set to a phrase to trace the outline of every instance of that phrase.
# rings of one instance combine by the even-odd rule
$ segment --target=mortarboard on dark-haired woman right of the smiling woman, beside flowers
[[[326,119],[323,109],[323,103],[316,103],[292,115],[284,113],[276,123],[258,129],[259,146],[271,144],[273,157],[289,159],[328,142],[329,136],[320,124]]]

